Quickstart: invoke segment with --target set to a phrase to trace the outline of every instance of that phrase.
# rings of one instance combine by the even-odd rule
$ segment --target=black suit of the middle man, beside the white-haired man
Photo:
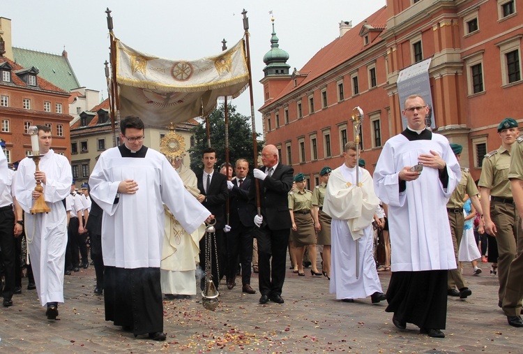
[[[241,262],[241,283],[250,284],[252,262],[252,228],[255,226],[248,207],[251,180],[247,177],[241,187],[238,178],[232,180],[229,191],[229,226],[227,233],[227,281],[234,279],[238,271],[238,256]]]

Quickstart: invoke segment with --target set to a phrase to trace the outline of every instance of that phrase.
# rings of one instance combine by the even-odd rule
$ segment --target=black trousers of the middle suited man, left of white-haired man
[[[238,272],[238,257],[241,263],[241,284],[250,284],[252,262],[252,227],[232,228],[227,235],[227,279],[234,279]]]

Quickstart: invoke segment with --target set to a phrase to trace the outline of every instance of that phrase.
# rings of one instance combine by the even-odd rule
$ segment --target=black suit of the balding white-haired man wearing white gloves
[[[265,172],[266,168],[260,170]],[[254,235],[258,242],[259,292],[268,297],[281,295],[285,281],[287,244],[292,226],[287,194],[291,190],[293,175],[293,168],[278,163],[271,177],[267,176],[263,181],[258,179],[264,220],[261,228],[255,226]],[[249,192],[252,219],[257,214],[256,202],[253,185]]]

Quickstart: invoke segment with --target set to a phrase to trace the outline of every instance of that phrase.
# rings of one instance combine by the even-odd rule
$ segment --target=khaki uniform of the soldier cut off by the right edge
[[[512,148],[512,160],[508,172],[509,179],[523,180],[523,137],[517,138]],[[517,235],[517,258],[510,263],[505,296],[503,297],[503,312],[506,316],[519,316],[523,298],[523,233]]]

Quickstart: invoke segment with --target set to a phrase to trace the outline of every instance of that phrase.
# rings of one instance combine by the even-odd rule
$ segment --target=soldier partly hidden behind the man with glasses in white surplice
[[[459,144],[450,144],[450,148],[454,152],[457,161],[459,162],[463,147]],[[469,169],[462,167],[460,183],[457,184],[456,189],[447,202],[448,221],[450,222],[450,234],[452,235],[456,263],[458,263],[457,254],[460,249],[465,223],[463,205],[467,199],[467,194],[471,199],[473,207],[476,208],[476,211],[480,214],[480,216],[483,216],[483,211],[478,198],[478,187],[476,187],[476,184],[474,183],[474,180],[469,173]],[[483,233],[483,221],[480,222],[479,227],[480,233]],[[474,275],[478,275],[480,273],[481,269],[476,266],[474,269]],[[463,274],[458,268],[448,270],[447,283],[447,293],[450,296],[459,296],[460,299],[464,300],[468,296],[472,295],[472,291],[467,287],[467,281],[463,279]],[[459,291],[456,290],[456,286]]]

